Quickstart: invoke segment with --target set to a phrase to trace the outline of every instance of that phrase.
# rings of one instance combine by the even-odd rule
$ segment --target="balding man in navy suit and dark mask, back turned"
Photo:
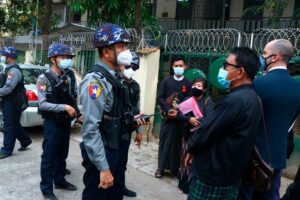
[[[282,170],[286,167],[288,131],[300,110],[300,84],[287,70],[294,52],[294,47],[288,40],[277,39],[269,42],[260,58],[261,68],[266,71],[266,75],[253,82],[253,87],[262,100],[267,131],[266,144],[264,128],[260,127],[256,146],[265,161],[274,168],[271,188],[265,193],[255,191],[255,199],[280,199],[280,180]],[[240,199],[252,199],[252,189],[246,188],[243,184]]]

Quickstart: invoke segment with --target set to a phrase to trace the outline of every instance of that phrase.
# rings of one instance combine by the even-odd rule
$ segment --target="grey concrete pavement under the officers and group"
[[[13,156],[0,160],[0,200],[39,200],[43,199],[40,189],[40,156],[42,152],[42,129],[27,129],[33,138],[33,144],[25,152],[18,152],[17,142]],[[0,133],[0,144],[3,134]],[[70,153],[67,167],[72,171],[66,176],[67,180],[75,184],[78,190],[68,192],[55,190],[59,199],[79,200],[83,190],[82,175],[84,169],[81,166],[79,142],[81,136],[79,129],[74,129],[70,141]],[[177,190],[177,179],[175,177],[154,178],[157,167],[157,141],[147,144],[143,143],[141,149],[131,145],[129,164],[126,175],[127,187],[137,191],[135,200],[164,200],[164,199],[186,199],[186,195]],[[282,179],[281,194],[284,193],[289,179]],[[131,198],[124,198],[125,200]]]

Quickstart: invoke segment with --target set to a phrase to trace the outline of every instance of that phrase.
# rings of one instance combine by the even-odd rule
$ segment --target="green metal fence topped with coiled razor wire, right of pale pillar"
[[[209,66],[218,58],[225,57],[236,46],[249,46],[261,53],[264,46],[274,39],[287,39],[300,56],[300,29],[257,29],[246,34],[237,29],[171,30],[163,39],[160,57],[159,81],[170,75],[173,57],[183,56],[190,68],[200,69],[208,75]],[[293,75],[300,74],[300,63],[289,66]],[[209,94],[218,99],[222,92],[211,85]],[[158,108],[156,108],[158,109]],[[158,110],[157,110],[158,111]],[[160,118],[155,118],[154,132],[158,133]]]

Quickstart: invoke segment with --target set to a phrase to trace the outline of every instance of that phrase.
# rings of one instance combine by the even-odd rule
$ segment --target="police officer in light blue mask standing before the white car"
[[[67,45],[50,45],[48,58],[52,62],[51,69],[41,74],[37,80],[39,112],[44,118],[40,188],[45,199],[57,199],[53,193],[53,182],[57,189],[77,189],[64,177],[71,121],[75,117],[82,118],[74,104],[66,75],[73,65],[74,55],[74,50]]]

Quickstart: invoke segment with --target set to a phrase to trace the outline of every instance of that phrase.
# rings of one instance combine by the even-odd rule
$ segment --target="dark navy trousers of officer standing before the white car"
[[[45,119],[43,124],[43,153],[40,188],[43,194],[53,193],[55,185],[63,185],[66,159],[69,153],[71,123],[57,125],[55,119]]]

